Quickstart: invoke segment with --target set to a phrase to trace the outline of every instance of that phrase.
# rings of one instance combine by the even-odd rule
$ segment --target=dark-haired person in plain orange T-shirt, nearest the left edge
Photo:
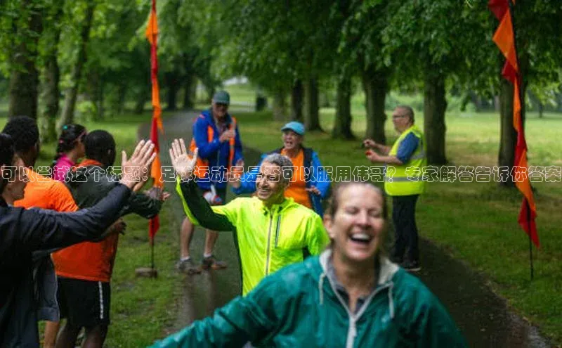
[[[14,202],[15,207],[40,208],[56,212],[74,212],[78,206],[63,183],[50,179],[32,167],[39,156],[39,128],[31,117],[15,117],[8,121],[3,133],[14,139],[15,152],[25,165],[27,186],[23,198]],[[47,252],[34,254],[35,282],[42,284],[39,320],[46,320],[44,347],[54,347],[58,332],[58,304],[56,302],[56,278],[53,262]]]

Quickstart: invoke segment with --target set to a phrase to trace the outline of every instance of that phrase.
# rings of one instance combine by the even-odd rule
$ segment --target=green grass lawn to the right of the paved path
[[[391,115],[388,110],[387,115]],[[271,122],[270,112],[237,113],[244,145],[263,150],[281,145],[281,123]],[[327,133],[311,132],[306,145],[314,148],[327,166],[369,165],[360,148],[365,132],[365,112],[356,103],[353,131],[358,140],[332,140]],[[334,109],[321,110],[321,124],[332,127]],[[423,124],[417,112],[416,122]],[[492,113],[447,112],[447,157],[451,165],[497,165],[499,117]],[[547,114],[540,120],[528,115],[526,135],[529,163],[537,166],[562,166],[562,145],[558,136],[562,115]],[[396,139],[387,122],[389,143]],[[254,165],[247,163],[247,165]],[[539,217],[537,228],[542,247],[534,249],[535,280],[530,281],[528,238],[517,224],[521,205],[518,191],[499,188],[497,183],[429,183],[427,193],[417,205],[422,236],[433,240],[453,256],[485,273],[492,288],[507,298],[519,314],[540,326],[545,335],[562,340],[562,183],[537,182],[535,198]]]

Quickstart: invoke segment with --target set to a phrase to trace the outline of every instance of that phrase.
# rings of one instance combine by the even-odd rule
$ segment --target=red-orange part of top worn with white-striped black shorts
[[[84,160],[78,167],[102,166],[94,160]],[[111,234],[99,242],[82,242],[53,252],[57,276],[83,281],[109,283],[117,254],[119,235]]]

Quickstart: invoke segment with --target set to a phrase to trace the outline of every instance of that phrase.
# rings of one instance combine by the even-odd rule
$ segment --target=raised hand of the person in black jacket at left
[[[139,141],[129,160],[127,160],[125,151],[122,151],[121,156],[123,175],[119,180],[120,183],[128,188],[133,188],[136,183],[148,180],[148,167],[156,157],[152,141]]]

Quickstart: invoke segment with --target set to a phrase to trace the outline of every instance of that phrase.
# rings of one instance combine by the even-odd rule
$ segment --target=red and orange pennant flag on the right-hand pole
[[[515,4],[514,0],[511,1]],[[514,23],[511,18],[509,0],[490,0],[488,8],[499,20],[499,26],[494,34],[493,41],[506,58],[502,75],[514,84],[514,129],[517,131],[514,181],[518,190],[523,194],[523,202],[517,221],[528,234],[532,243],[540,247],[537,225],[535,224],[537,206],[528,177],[527,142],[525,141],[525,130],[521,119],[521,104],[523,103],[521,101],[521,72],[517,59]]]

